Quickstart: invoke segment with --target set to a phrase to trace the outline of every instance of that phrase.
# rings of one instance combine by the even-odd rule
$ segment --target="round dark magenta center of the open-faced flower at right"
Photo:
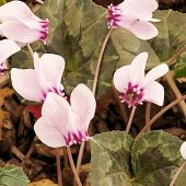
[[[131,82],[128,83],[127,89],[120,94],[119,98],[121,103],[126,103],[128,107],[136,107],[137,105],[142,105],[143,101],[143,89],[139,84],[132,85]]]

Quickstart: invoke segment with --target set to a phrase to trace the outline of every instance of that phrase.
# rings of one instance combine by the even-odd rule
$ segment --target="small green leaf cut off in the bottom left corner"
[[[28,183],[21,167],[14,165],[0,167],[0,186],[26,186]]]

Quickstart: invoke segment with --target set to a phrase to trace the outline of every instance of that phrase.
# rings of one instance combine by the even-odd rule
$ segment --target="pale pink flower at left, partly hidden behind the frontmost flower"
[[[34,68],[11,70],[13,89],[21,96],[35,102],[44,102],[48,92],[65,96],[60,83],[65,69],[65,60],[61,56],[44,54],[39,58],[34,53]]]

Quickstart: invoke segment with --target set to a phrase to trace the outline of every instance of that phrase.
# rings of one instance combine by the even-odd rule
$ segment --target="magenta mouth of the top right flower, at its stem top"
[[[118,26],[118,22],[120,21],[120,9],[117,5],[109,4],[107,11],[108,19],[108,27]]]

